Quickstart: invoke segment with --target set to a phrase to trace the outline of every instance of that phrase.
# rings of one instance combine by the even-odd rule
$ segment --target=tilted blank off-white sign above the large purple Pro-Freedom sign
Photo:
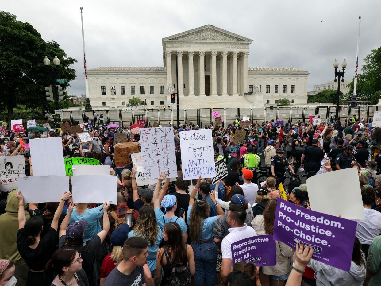
[[[335,185],[333,191],[332,182],[336,181],[340,183]],[[312,176],[306,183],[312,210],[341,215],[345,219],[365,218],[357,169],[348,168]]]

